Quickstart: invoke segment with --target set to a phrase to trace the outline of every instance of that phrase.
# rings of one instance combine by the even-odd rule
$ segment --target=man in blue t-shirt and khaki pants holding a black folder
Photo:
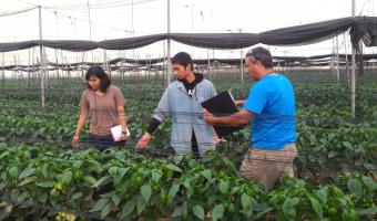
[[[207,124],[242,125],[252,122],[252,146],[241,166],[249,180],[272,188],[282,173],[294,176],[296,157],[295,93],[289,80],[273,70],[268,50],[258,46],[245,55],[248,77],[256,81],[243,108],[233,115],[215,117],[204,109]]]

